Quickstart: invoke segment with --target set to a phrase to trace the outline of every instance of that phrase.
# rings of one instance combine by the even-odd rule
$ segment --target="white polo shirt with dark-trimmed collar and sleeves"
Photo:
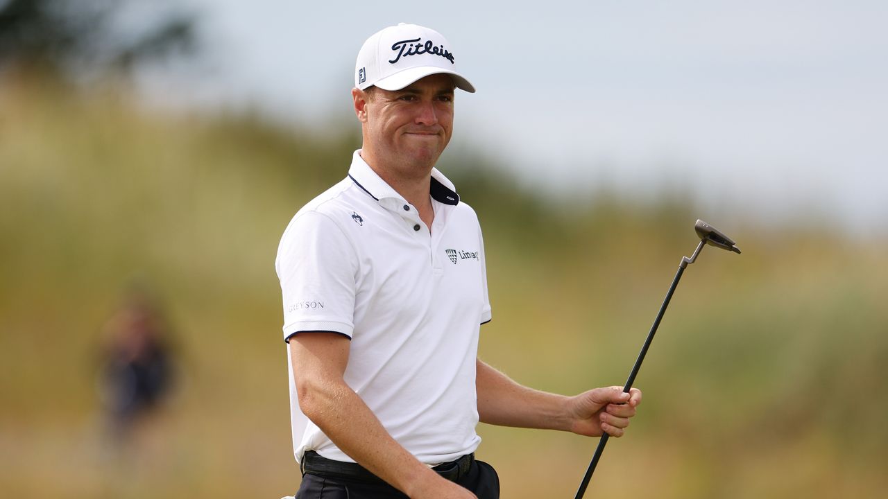
[[[430,232],[360,153],[281,238],[283,337],[351,338],[345,383],[420,461],[452,461],[480,443],[475,359],[490,305],[478,218],[433,169]],[[299,409],[287,350],[297,461],[313,449],[353,462]]]

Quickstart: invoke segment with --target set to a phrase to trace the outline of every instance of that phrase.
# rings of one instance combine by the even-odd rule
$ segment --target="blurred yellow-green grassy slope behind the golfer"
[[[0,80],[4,496],[295,491],[274,254],[293,213],[345,175],[353,129],[171,116],[123,91]],[[706,218],[688,193],[551,202],[472,154],[441,168],[485,227],[495,320],[482,358],[545,390],[622,384]],[[638,376],[644,410],[587,496],[881,497],[885,241],[724,228],[743,255],[706,249],[686,272]],[[141,451],[109,459],[99,328],[133,275],[164,299],[185,383]],[[480,432],[503,498],[573,496],[596,444]]]

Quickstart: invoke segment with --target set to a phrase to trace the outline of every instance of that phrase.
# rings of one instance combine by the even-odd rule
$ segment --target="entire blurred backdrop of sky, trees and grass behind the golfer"
[[[438,29],[440,169],[485,229],[480,356],[622,384],[588,497],[888,490],[888,5],[0,0],[0,494],[295,492],[277,243],[345,176],[361,43]],[[881,304],[881,305],[880,305]],[[503,498],[596,440],[480,425]]]

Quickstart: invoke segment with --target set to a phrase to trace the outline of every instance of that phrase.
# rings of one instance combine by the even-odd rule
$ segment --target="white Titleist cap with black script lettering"
[[[447,39],[434,29],[400,23],[370,36],[358,52],[354,86],[371,85],[400,90],[428,75],[445,73],[457,88],[474,92],[475,87],[456,73],[456,58]]]

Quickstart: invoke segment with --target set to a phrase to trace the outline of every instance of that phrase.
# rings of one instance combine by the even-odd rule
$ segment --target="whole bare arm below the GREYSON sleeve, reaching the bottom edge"
[[[327,332],[289,340],[299,408],[346,455],[412,498],[475,497],[441,478],[385,431],[361,397],[345,383],[350,339]]]

